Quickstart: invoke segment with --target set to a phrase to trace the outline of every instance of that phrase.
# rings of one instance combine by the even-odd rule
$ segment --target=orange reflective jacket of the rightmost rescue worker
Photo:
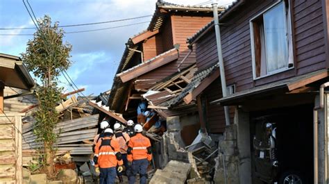
[[[134,137],[130,138],[128,143],[128,153],[127,159],[129,162],[133,160],[147,159],[152,160],[151,153],[151,142],[148,137],[142,135],[142,133],[137,133]]]

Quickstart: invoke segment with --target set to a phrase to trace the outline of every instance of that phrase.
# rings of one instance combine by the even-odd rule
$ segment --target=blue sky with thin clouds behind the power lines
[[[49,15],[53,22],[58,21],[60,25],[68,25],[153,15],[156,0],[29,0],[29,2],[37,18]],[[168,2],[195,5],[205,0],[168,0]],[[231,0],[220,0],[219,5],[230,2]],[[65,31],[108,28],[150,20],[151,16],[124,22],[65,28]],[[67,73],[78,87],[85,87],[86,96],[98,95],[110,90],[128,37],[143,31],[148,25],[149,23],[144,23],[105,31],[65,35],[65,41],[73,47],[71,51],[73,65]],[[0,0],[0,28],[33,26],[22,0]],[[0,34],[33,32],[34,30],[0,30]],[[25,51],[26,42],[32,38],[22,35],[0,35],[0,53],[19,56]],[[60,81],[66,91],[73,90],[64,78],[60,78]]]

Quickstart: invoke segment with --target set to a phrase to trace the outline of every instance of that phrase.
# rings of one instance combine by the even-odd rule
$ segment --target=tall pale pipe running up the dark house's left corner
[[[224,63],[223,63],[223,55],[221,53],[221,34],[220,34],[220,30],[219,30],[218,8],[217,8],[216,0],[212,1],[212,9],[214,12],[214,30],[216,33],[219,72],[220,72],[220,76],[221,76],[221,92],[223,93],[223,97],[226,97],[227,96],[226,77],[225,77],[225,69],[224,69]],[[230,125],[230,112],[229,112],[228,106],[224,106],[224,111],[225,111],[226,126],[228,126],[228,125]]]

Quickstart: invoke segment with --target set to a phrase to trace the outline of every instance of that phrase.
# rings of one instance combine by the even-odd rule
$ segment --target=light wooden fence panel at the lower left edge
[[[23,183],[22,117],[24,113],[0,114],[0,184]]]

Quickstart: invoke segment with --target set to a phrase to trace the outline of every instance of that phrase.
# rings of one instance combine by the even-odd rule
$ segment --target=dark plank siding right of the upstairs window
[[[297,74],[326,68],[321,1],[296,1],[294,4]]]

